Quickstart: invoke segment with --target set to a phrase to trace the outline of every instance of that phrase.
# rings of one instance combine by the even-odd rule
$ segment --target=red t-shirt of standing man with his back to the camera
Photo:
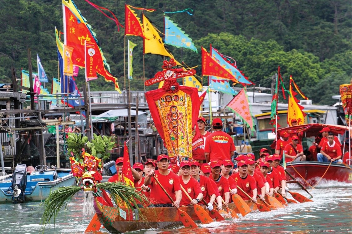
[[[227,133],[215,131],[207,136],[204,152],[210,153],[210,160],[231,160],[231,151],[235,151],[235,145]]]

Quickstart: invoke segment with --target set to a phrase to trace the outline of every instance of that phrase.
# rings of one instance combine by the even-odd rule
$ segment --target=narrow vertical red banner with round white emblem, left
[[[85,53],[86,53],[86,81],[90,80],[95,80],[98,79],[98,76],[96,75],[96,67],[98,66],[97,60],[99,59],[98,53],[96,53],[99,48],[95,46],[95,43],[91,42],[84,42],[85,44]]]

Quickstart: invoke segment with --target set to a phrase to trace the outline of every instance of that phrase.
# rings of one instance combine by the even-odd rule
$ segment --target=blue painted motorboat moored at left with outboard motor
[[[13,174],[0,178],[0,204],[44,201],[52,188],[71,186],[75,177],[71,169],[52,168],[46,165],[27,172],[25,164],[17,164]]]

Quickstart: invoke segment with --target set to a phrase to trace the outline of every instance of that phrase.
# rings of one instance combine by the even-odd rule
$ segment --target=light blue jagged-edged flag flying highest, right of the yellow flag
[[[180,27],[177,27],[177,24],[174,21],[170,20],[170,17],[164,16],[165,22],[165,44],[176,46],[177,48],[183,47],[191,49],[198,53],[197,48],[194,46],[192,39],[181,30]]]

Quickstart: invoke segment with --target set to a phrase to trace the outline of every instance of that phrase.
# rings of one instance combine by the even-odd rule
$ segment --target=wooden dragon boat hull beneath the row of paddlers
[[[258,211],[258,207],[250,200],[245,201],[252,211]],[[258,203],[263,203],[258,201]],[[264,204],[264,203],[263,203]],[[98,205],[99,206],[99,205]],[[205,208],[205,206],[204,206]],[[236,213],[240,213],[235,204],[229,204],[229,208]],[[140,229],[163,229],[175,226],[182,226],[182,222],[178,217],[178,211],[174,207],[160,207],[160,208],[140,208],[140,214],[136,210],[127,208],[117,208],[102,205],[99,207],[101,214],[98,214],[98,219],[102,226],[104,226],[110,233],[124,233],[132,232]],[[200,220],[194,212],[193,206],[180,207],[186,212],[191,219],[196,223]],[[226,208],[224,207],[224,210]],[[206,209],[208,212],[208,210]],[[143,222],[141,216],[145,216],[147,222]]]

